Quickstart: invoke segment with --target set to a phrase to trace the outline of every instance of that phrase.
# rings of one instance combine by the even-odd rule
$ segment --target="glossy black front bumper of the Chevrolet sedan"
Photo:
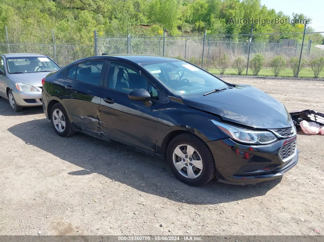
[[[296,142],[296,136],[269,145],[242,145],[231,139],[207,142],[217,169],[216,178],[228,184],[256,184],[282,177],[298,162],[297,145],[294,152],[282,159],[279,151]]]

